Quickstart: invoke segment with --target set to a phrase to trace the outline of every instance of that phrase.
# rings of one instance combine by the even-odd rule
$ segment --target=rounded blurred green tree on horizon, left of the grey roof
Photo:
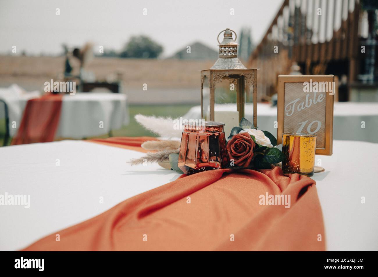
[[[131,37],[120,54],[121,58],[157,58],[163,52],[163,46],[151,38],[140,35]]]

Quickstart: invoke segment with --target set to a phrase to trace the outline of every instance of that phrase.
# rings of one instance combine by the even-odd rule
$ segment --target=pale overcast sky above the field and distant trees
[[[91,41],[120,50],[132,35],[148,35],[164,56],[194,41],[216,49],[217,34],[252,28],[259,43],[283,0],[0,0],[0,53],[59,54]],[[60,15],[56,15],[56,8]],[[143,15],[143,9],[147,15]],[[234,15],[230,14],[231,8]]]

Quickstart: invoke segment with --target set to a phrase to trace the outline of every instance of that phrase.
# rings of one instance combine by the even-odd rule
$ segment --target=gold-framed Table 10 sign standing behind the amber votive
[[[279,75],[277,144],[282,133],[317,136],[316,154],[332,155],[333,75]]]

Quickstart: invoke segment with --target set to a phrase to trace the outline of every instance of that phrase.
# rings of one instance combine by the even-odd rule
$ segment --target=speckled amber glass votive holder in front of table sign
[[[283,133],[282,161],[284,173],[298,173],[305,176],[314,175],[316,135],[305,133]]]

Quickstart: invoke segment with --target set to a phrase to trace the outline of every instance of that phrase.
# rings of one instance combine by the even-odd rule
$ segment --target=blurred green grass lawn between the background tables
[[[129,105],[130,123],[119,130],[112,130],[113,136],[155,136],[153,133],[145,130],[139,125],[134,115],[141,113],[142,115],[156,116],[183,116],[195,104],[178,104],[178,105]],[[5,119],[0,119],[0,146],[3,146],[3,138],[5,133]],[[100,136],[107,138],[107,135]],[[10,143],[10,140],[8,144]]]

